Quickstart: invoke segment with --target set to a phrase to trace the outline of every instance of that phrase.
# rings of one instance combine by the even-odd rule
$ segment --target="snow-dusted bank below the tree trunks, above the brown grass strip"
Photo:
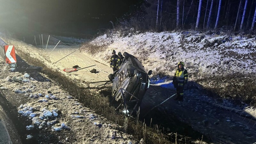
[[[185,62],[190,74],[256,72],[255,37],[196,32],[130,33],[123,37],[120,32],[115,32],[99,36],[91,44],[106,47],[96,57],[107,60],[113,49],[122,53],[126,51],[139,58],[146,69],[152,69],[153,74],[162,71],[172,75],[179,61]]]

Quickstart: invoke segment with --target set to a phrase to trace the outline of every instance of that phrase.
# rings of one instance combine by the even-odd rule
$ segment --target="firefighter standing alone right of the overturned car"
[[[175,100],[183,101],[183,89],[184,85],[188,83],[188,71],[184,68],[184,63],[179,62],[178,68],[173,76],[173,85],[177,91],[177,97]]]

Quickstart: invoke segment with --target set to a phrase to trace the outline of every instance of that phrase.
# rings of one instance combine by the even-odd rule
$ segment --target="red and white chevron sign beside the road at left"
[[[14,45],[4,45],[5,61],[8,64],[16,63]]]

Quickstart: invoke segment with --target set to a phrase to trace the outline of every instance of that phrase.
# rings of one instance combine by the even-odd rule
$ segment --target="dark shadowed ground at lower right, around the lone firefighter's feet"
[[[148,113],[148,109],[174,93],[171,82],[152,84],[140,106],[142,116],[147,114],[143,119],[150,122],[153,118],[152,124],[161,124],[167,133],[178,132],[200,139],[204,135],[203,140],[213,143],[220,143],[220,139],[240,144],[256,141],[256,115],[244,111],[250,108],[255,112],[254,107],[237,106],[229,100],[209,97],[195,83],[187,85],[183,102],[175,101],[174,97]]]

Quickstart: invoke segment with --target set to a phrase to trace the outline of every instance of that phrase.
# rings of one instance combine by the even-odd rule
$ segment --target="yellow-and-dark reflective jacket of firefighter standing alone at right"
[[[174,79],[177,81],[177,86],[183,86],[188,83],[188,71],[185,68],[177,68],[174,73]]]

